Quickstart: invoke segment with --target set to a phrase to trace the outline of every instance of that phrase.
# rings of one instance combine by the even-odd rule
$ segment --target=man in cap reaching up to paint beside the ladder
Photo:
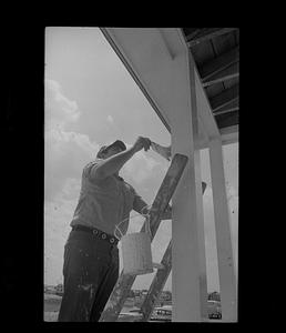
[[[116,140],[100,149],[84,167],[79,203],[64,245],[63,286],[59,322],[98,322],[119,278],[119,249],[114,229],[129,226],[132,210],[146,213],[145,201],[120,175],[121,168],[151,140],[139,137],[126,149]],[[166,210],[171,218],[171,208]]]

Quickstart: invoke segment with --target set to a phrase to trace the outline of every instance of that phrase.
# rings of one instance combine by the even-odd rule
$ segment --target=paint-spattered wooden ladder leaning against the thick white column
[[[150,211],[150,230],[151,241],[154,239],[156,231],[161,223],[161,216],[164,213],[177,183],[183,174],[185,165],[187,163],[187,157],[182,154],[175,154],[172,159],[171,165],[165,174],[165,178],[159,189],[159,192],[154,199]],[[142,226],[141,232],[145,231],[145,225]],[[162,269],[159,269],[147,295],[142,304],[142,319],[141,321],[147,321],[151,316],[157,296],[161,294],[167,276],[171,272],[171,254],[172,254],[172,241],[170,241],[165,254],[161,261]],[[136,275],[124,274],[123,270],[121,275],[110,295],[110,299],[101,314],[100,322],[115,322],[120,315],[120,312],[126,301],[126,297],[131,291],[131,287],[136,279]]]

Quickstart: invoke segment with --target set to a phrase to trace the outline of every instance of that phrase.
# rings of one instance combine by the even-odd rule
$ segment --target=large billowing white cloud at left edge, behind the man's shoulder
[[[67,180],[80,180],[83,167],[94,159],[99,144],[82,133],[69,131],[80,117],[57,81],[45,80],[44,196],[51,200]]]

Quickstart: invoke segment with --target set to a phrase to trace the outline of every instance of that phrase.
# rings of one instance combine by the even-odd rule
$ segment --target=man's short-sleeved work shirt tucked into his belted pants
[[[129,228],[130,212],[140,212],[145,202],[132,185],[118,175],[103,180],[92,179],[91,169],[96,168],[101,161],[96,159],[83,168],[80,198],[70,225],[94,226],[113,235],[115,225],[126,219],[120,224],[124,234]]]

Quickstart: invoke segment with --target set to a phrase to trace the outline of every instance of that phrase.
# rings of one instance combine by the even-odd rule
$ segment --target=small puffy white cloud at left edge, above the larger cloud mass
[[[75,101],[69,100],[61,90],[59,82],[54,80],[44,81],[44,125],[45,128],[60,127],[75,122],[81,112]]]

